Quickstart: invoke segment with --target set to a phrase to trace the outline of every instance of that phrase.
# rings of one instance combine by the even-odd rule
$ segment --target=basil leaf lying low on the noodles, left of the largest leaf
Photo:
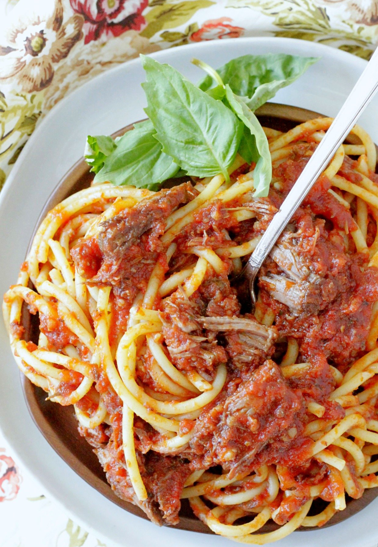
[[[117,139],[116,148],[105,159],[94,182],[131,184],[137,188],[158,190],[162,182],[173,177],[179,166],[162,152],[150,120],[141,121]]]

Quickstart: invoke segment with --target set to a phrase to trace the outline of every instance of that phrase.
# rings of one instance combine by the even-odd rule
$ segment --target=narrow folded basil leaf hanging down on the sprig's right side
[[[249,136],[248,132],[244,130],[242,146],[244,148],[247,146],[251,157],[255,155],[256,158],[257,154],[259,156],[257,161],[256,159],[252,160],[256,161],[255,171],[253,172],[253,186],[255,187],[253,197],[266,197],[269,193],[271,181],[271,157],[268,139],[255,114],[245,104],[243,97],[235,95],[228,84],[225,87],[229,105],[250,131]],[[246,153],[245,149],[240,150],[240,155],[243,159],[246,159],[243,153]]]

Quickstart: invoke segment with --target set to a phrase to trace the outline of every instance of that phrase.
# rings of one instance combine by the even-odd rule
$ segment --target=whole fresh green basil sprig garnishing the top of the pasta
[[[88,136],[85,159],[95,182],[158,190],[166,179],[206,177],[228,171],[237,152],[256,163],[255,196],[268,195],[271,159],[268,142],[253,114],[275,92],[316,61],[293,55],[244,55],[209,75],[199,88],[169,65],[141,55],[149,120],[115,141]],[[214,85],[215,81],[215,85]]]

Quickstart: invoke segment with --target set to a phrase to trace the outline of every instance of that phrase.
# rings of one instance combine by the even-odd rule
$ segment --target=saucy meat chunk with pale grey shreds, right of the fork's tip
[[[300,358],[323,356],[345,371],[365,349],[378,270],[349,253],[337,230],[302,211],[262,266],[259,287],[283,336],[298,339]]]

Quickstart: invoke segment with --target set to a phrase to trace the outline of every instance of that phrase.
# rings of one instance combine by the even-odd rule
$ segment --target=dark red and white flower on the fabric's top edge
[[[130,29],[140,31],[146,21],[141,15],[148,0],[69,0],[76,13],[84,16],[84,43],[120,36]]]

